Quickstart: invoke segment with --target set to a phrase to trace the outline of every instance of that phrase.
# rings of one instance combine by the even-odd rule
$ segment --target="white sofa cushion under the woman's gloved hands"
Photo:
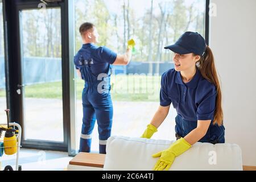
[[[104,170],[152,170],[162,151],[175,141],[113,136],[106,145]],[[241,148],[231,143],[197,142],[177,156],[170,170],[242,170]]]

